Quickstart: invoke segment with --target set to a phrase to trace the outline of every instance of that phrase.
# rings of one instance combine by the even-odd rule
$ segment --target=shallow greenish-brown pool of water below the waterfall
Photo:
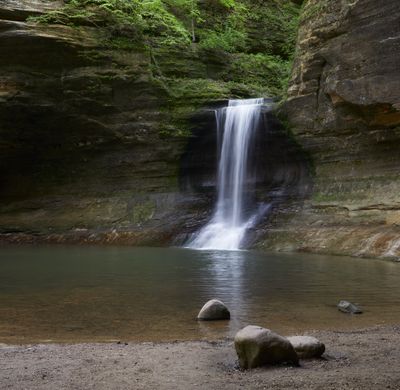
[[[0,250],[0,342],[230,337],[247,324],[283,334],[400,322],[400,264],[178,248]],[[219,298],[231,321],[197,322]],[[340,313],[340,299],[364,314]]]

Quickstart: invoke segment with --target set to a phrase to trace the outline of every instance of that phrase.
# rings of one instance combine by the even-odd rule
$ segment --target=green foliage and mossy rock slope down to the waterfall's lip
[[[99,47],[148,52],[172,127],[184,129],[209,101],[284,96],[299,11],[287,0],[65,0],[31,21],[100,28]]]

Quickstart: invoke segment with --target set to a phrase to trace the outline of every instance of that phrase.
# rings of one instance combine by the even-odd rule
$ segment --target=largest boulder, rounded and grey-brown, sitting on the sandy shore
[[[236,333],[235,348],[242,368],[299,363],[288,339],[260,326],[249,325]]]

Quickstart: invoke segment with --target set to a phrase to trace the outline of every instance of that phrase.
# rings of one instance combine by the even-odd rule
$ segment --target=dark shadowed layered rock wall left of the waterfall
[[[100,48],[105,30],[26,22],[60,3],[0,4],[0,233],[169,242],[188,213],[186,139],[160,135],[167,93],[140,45]]]

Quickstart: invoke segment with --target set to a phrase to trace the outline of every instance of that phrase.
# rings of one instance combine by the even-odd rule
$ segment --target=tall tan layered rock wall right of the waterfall
[[[306,3],[283,111],[314,190],[266,247],[400,256],[399,13],[397,0]]]

